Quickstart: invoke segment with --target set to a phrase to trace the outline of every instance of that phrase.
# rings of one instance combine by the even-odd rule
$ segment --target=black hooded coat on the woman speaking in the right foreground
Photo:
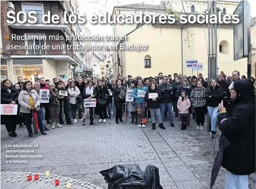
[[[224,149],[223,168],[235,175],[254,173],[255,106],[243,102],[234,105],[228,113],[218,116],[218,125],[231,143]]]

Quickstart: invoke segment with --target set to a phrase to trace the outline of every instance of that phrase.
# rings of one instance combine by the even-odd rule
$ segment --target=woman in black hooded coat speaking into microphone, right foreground
[[[221,137],[230,143],[224,148],[221,161],[226,169],[225,188],[249,188],[248,175],[255,173],[256,158],[255,105],[251,84],[245,80],[236,80],[231,89],[231,99],[232,107],[228,113],[223,102],[218,106]]]

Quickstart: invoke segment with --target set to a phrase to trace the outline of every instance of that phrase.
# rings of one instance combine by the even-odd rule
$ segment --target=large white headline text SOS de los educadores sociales
[[[207,13],[207,12],[206,12]],[[22,19],[20,18],[20,15],[22,15]],[[40,16],[40,17],[39,17]],[[55,14],[55,15],[50,15],[50,11],[47,12],[47,14],[44,15],[37,15],[35,11],[30,11],[29,13],[25,13],[24,11],[19,11],[17,14],[14,11],[10,11],[7,13],[7,17],[9,20],[6,20],[7,23],[38,23],[37,19],[40,18],[40,21],[43,23],[54,23],[58,24],[60,22],[60,16]],[[67,16],[66,11],[64,12],[64,19],[61,18],[62,24],[64,23],[75,23],[78,22],[80,24],[86,23],[85,14],[79,14],[79,15],[69,15]],[[210,19],[209,19],[210,18]],[[221,18],[223,18],[221,20]],[[139,24],[139,23],[174,23],[175,20],[175,15],[169,14],[169,15],[143,15],[142,12],[136,15],[110,15],[107,12],[105,14],[101,15],[89,15],[89,22],[92,24]],[[234,15],[221,15],[221,12],[218,13],[217,15],[209,15],[208,14],[199,14],[199,15],[194,15],[190,14],[189,16],[186,14],[180,15],[179,22],[181,24],[185,24],[187,22],[193,24],[195,22],[197,23],[238,23],[239,22],[239,15],[234,14]]]

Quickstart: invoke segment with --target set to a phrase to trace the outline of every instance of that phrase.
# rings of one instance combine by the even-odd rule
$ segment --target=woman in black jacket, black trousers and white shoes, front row
[[[98,80],[97,86],[95,87],[95,98],[98,100],[98,114],[99,114],[99,123],[103,120],[103,123],[106,123],[107,116],[107,99],[109,98],[109,89],[108,87],[102,84],[101,80]]]

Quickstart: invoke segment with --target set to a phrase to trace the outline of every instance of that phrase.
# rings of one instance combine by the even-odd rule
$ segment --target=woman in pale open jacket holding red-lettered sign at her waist
[[[88,82],[88,86],[84,89],[84,99],[95,98],[95,91],[92,86],[92,80]],[[93,125],[93,107],[85,107],[85,113],[83,117],[82,125],[85,125],[86,117],[90,114],[90,125]]]

